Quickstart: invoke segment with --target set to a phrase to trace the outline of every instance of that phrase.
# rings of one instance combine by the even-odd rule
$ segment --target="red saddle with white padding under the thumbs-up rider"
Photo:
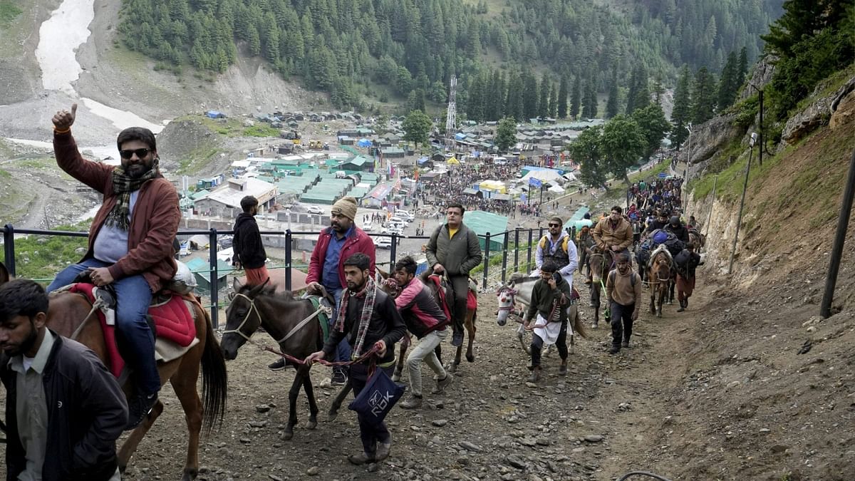
[[[119,377],[125,367],[125,360],[121,357],[115,336],[115,293],[110,288],[97,288],[86,282],[71,284],[68,292],[85,295],[96,308],[104,343],[107,346],[107,364],[110,372],[115,377]],[[156,337],[157,360],[167,362],[177,359],[198,342],[191,303],[198,304],[198,300],[190,294],[161,291],[151,297],[148,317],[149,325]]]

